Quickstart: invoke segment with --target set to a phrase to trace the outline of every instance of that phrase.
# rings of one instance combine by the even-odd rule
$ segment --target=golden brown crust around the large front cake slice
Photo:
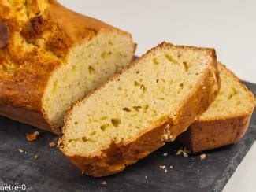
[[[155,50],[163,47],[173,46],[169,43],[163,42],[161,45],[147,52],[154,52]],[[186,49],[187,46],[178,46],[182,49]],[[189,47],[195,49],[195,47]],[[65,128],[69,126],[69,119],[72,114],[72,109],[69,110],[68,115],[65,118],[65,127],[63,128],[64,137],[58,142],[60,150],[65,153],[66,157],[72,161],[73,164],[76,164],[78,168],[82,170],[83,173],[87,175],[93,175],[95,177],[112,175],[117,172],[121,172],[128,164],[133,164],[139,159],[146,157],[148,154],[152,153],[154,150],[157,150],[161,146],[165,145],[165,142],[169,140],[174,140],[181,132],[185,131],[186,128],[195,120],[195,118],[203,113],[211,102],[217,96],[218,90],[220,88],[220,79],[219,72],[217,70],[217,61],[215,50],[209,49],[209,54],[212,57],[212,63],[210,68],[205,72],[202,77],[202,82],[198,83],[197,90],[194,94],[191,94],[186,101],[184,101],[183,107],[177,112],[175,119],[170,120],[169,118],[163,119],[158,122],[158,125],[152,127],[148,132],[139,135],[137,138],[134,138],[132,141],[127,143],[113,143],[109,146],[108,149],[102,150],[100,154],[97,154],[93,157],[81,157],[81,156],[70,156],[68,153],[65,153]],[[147,54],[144,54],[143,59],[147,57]],[[125,72],[128,68],[136,65],[138,60],[134,61],[131,65],[121,72]],[[118,74],[114,76],[109,81],[117,79]],[[103,84],[102,87],[106,85]],[[98,87],[96,91],[100,90],[102,87]],[[203,88],[205,87],[205,88]],[[92,92],[90,95],[87,95],[86,98],[92,97],[95,92]],[[76,105],[80,105],[81,102],[77,102]]]

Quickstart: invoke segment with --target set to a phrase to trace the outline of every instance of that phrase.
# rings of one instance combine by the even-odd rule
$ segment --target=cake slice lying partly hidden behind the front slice
[[[254,111],[254,95],[228,68],[221,63],[218,68],[221,90],[216,100],[178,137],[192,153],[238,142]]]

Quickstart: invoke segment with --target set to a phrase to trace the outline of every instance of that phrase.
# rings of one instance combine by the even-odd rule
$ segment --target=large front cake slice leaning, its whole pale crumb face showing
[[[121,172],[185,131],[218,90],[215,50],[164,42],[77,102],[58,146],[87,175]]]

